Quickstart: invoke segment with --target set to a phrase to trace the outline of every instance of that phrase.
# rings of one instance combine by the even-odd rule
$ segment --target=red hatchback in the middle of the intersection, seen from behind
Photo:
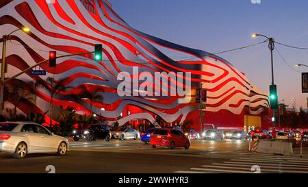
[[[185,149],[190,148],[190,140],[176,129],[155,129],[150,139],[150,145],[153,148],[157,146],[170,147],[170,149],[175,149],[175,147],[185,147]]]

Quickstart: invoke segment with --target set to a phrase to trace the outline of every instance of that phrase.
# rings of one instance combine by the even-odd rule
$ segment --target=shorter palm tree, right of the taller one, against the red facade
[[[90,90],[87,86],[82,86],[81,93],[79,95],[75,95],[74,97],[77,97],[77,99],[88,99],[90,101],[90,116],[93,116],[93,101],[103,102],[103,96],[100,92],[101,88],[94,88],[94,90]],[[92,123],[93,121],[91,121],[91,125]]]

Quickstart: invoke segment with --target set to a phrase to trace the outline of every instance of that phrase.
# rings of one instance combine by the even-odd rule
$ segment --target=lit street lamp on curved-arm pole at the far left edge
[[[15,29],[10,32],[10,34],[5,34],[2,36],[2,64],[1,64],[1,81],[0,81],[0,114],[2,115],[2,110],[4,107],[3,97],[4,97],[4,79],[5,79],[5,52],[6,52],[6,41],[10,39],[11,34],[16,31],[22,30],[23,32],[30,32],[28,27],[23,27],[21,29]]]

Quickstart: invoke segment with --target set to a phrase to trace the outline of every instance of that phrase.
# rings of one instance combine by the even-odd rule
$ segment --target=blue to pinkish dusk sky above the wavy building
[[[296,47],[308,47],[307,0],[110,0],[114,10],[131,27],[175,42],[179,45],[202,49],[211,53],[255,44],[274,37],[277,42]],[[276,45],[290,68],[274,50],[274,82],[279,100],[292,107],[306,108],[308,94],[301,93],[300,72],[305,66],[294,67],[296,62],[308,64],[308,50],[291,49]],[[167,54],[177,57],[176,54]],[[183,56],[183,55],[181,55]],[[246,77],[268,92],[271,83],[270,51],[267,43],[248,49],[223,53],[220,57],[246,73]],[[296,72],[298,71],[298,72]]]

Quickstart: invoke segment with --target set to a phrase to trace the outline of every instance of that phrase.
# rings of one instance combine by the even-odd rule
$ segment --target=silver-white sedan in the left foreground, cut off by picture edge
[[[28,153],[57,153],[69,149],[66,138],[56,136],[44,126],[31,122],[1,122],[0,152],[12,153],[14,158],[25,158]]]

